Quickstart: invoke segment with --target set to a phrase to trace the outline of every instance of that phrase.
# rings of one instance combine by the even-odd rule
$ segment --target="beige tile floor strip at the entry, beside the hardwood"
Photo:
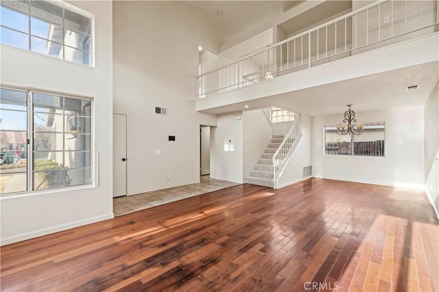
[[[115,216],[121,216],[237,185],[239,184],[235,182],[215,180],[210,178],[209,175],[202,175],[199,184],[188,184],[186,186],[165,188],[163,190],[141,193],[138,195],[115,197],[112,200],[112,210],[115,213]]]

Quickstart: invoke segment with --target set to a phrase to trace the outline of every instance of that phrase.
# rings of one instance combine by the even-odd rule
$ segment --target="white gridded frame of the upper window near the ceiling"
[[[75,63],[75,64],[82,64],[84,66],[95,67],[95,15],[90,13],[90,12],[87,12],[86,10],[82,10],[81,8],[78,8],[78,7],[74,6],[74,5],[66,3],[66,2],[64,2],[62,0],[45,0],[48,3],[54,4],[54,5],[62,8],[62,24],[60,25],[59,23],[54,23],[53,21],[49,21],[49,20],[46,20],[46,19],[41,19],[40,17],[38,17],[36,15],[32,15],[31,14],[32,1],[34,1],[34,0],[27,0],[27,2],[29,3],[29,10],[27,12],[23,12],[21,10],[16,10],[14,8],[10,8],[8,5],[1,5],[1,7],[3,7],[3,8],[9,9],[9,10],[12,10],[13,12],[16,12],[16,13],[23,14],[23,15],[27,16],[28,25],[29,25],[27,33],[26,32],[21,32],[20,30],[14,29],[12,27],[1,25],[1,23],[0,23],[0,27],[4,28],[4,29],[8,29],[8,30],[13,31],[13,32],[19,32],[21,34],[25,34],[27,36],[27,38],[28,38],[27,49],[25,49],[26,51],[30,51],[32,53],[38,53],[38,54],[43,55],[43,56],[49,56],[51,58],[56,58],[56,59],[64,60],[64,61],[67,61],[67,62],[72,62],[72,63]],[[89,37],[90,37],[90,51],[89,52],[88,51],[84,51],[82,49],[79,49],[77,47],[72,47],[71,45],[66,45],[65,42],[64,42],[64,38],[62,39],[62,43],[60,43],[60,42],[56,42],[54,40],[48,40],[48,39],[42,38],[40,36],[37,36],[35,34],[32,34],[32,29],[31,29],[31,27],[32,27],[32,19],[37,19],[38,21],[44,21],[46,23],[51,23],[51,24],[54,24],[54,25],[61,26],[62,30],[63,30],[63,36],[64,36],[64,31],[67,32],[67,30],[69,30],[69,31],[73,30],[73,32],[78,32],[78,34],[84,34],[83,32],[80,32],[77,29],[69,27],[69,26],[67,26],[65,24],[65,10],[68,10],[69,12],[73,12],[75,14],[79,14],[80,16],[83,16],[86,19],[90,19],[90,35],[89,35]],[[61,48],[61,50],[62,50],[62,58],[59,58],[59,57],[56,57],[56,56],[51,56],[51,55],[49,55],[49,53],[39,53],[38,51],[32,51],[32,47],[31,47],[32,46],[31,45],[32,44],[32,38],[36,38],[38,40],[44,40],[44,41],[53,42],[56,45],[61,45],[62,46],[62,48]],[[1,45],[6,45],[8,47],[15,47],[17,49],[23,49],[23,48],[18,47],[18,46],[3,44],[1,42],[0,42],[0,44]],[[89,55],[90,55],[90,64],[84,64],[82,62],[76,62],[74,60],[66,60],[66,55],[65,55],[66,47],[69,48],[69,49],[83,51],[84,53],[89,53]]]

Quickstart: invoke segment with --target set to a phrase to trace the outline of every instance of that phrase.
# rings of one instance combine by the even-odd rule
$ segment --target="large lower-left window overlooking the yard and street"
[[[91,184],[91,101],[0,89],[1,194]]]

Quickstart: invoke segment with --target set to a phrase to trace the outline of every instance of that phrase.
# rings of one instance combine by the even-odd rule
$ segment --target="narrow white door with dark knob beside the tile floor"
[[[126,114],[112,115],[112,197],[126,191]]]

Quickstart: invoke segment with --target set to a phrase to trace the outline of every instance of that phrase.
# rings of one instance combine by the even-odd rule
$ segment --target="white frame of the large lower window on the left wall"
[[[84,188],[94,188],[96,186],[95,182],[95,100],[93,97],[87,97],[82,95],[71,95],[67,93],[56,93],[54,91],[49,90],[38,90],[35,88],[22,88],[22,87],[16,87],[16,86],[6,86],[3,84],[0,84],[0,88],[2,89],[8,89],[8,90],[16,90],[20,92],[27,93],[27,158],[26,158],[26,174],[27,174],[27,181],[26,181],[26,191],[18,191],[14,193],[0,193],[0,199],[5,197],[14,197],[14,196],[23,196],[23,195],[37,195],[40,193],[59,193],[64,191],[71,191],[74,189],[84,189]],[[34,190],[35,182],[34,182],[34,173],[36,172],[36,167],[34,165],[34,99],[33,95],[34,93],[37,94],[43,94],[43,95],[54,95],[58,97],[66,97],[69,99],[80,99],[83,101],[89,101],[90,102],[90,141],[89,141],[89,148],[88,152],[90,153],[90,166],[89,166],[89,182],[86,184],[75,184],[73,186],[57,186],[54,188],[43,188]],[[64,112],[64,110],[63,110]],[[63,117],[67,117],[67,114],[65,112],[62,114]],[[63,129],[62,131],[65,131],[64,123],[63,123]],[[64,134],[64,133],[63,133]],[[67,134],[67,132],[65,133]],[[65,140],[65,137],[63,136],[63,140]],[[65,151],[64,147],[64,141],[63,143],[63,149],[62,152]],[[83,151],[83,150],[78,150]],[[63,160],[64,162],[64,160]]]

